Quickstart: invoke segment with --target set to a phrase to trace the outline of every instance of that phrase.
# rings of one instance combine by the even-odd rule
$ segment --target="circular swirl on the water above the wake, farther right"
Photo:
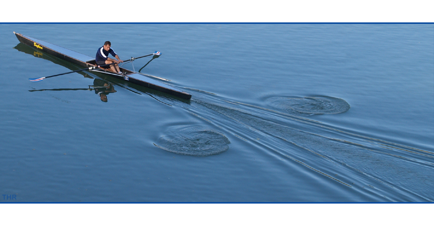
[[[343,99],[316,96],[304,98],[270,98],[269,104],[279,110],[292,114],[338,114],[350,109]]]

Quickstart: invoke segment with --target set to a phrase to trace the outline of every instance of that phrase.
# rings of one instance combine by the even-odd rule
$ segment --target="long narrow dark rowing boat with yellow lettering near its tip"
[[[44,42],[44,41],[41,41],[41,40],[38,40],[35,38],[24,36],[24,35],[19,34],[19,33],[15,33],[15,32],[13,32],[13,33],[16,35],[16,37],[18,38],[18,40],[21,43],[26,44],[26,45],[31,46],[31,47],[34,47],[38,51],[49,53],[53,56],[56,56],[60,59],[77,64],[81,67],[89,68],[89,67],[96,66],[95,59],[90,57],[90,56],[86,56],[84,54],[77,53],[75,51],[72,51],[72,50],[57,46],[57,45],[53,45],[51,43]],[[125,68],[121,68],[121,71],[125,75],[120,75],[120,74],[112,72],[109,69],[102,69],[102,68],[98,68],[98,69],[91,70],[91,71],[104,73],[104,74],[109,75],[111,77],[122,79],[124,81],[128,81],[128,82],[133,83],[133,84],[137,84],[137,85],[140,85],[143,87],[147,87],[147,88],[150,88],[153,90],[167,93],[167,94],[179,97],[179,98],[183,98],[183,99],[187,99],[187,100],[189,100],[191,98],[191,95],[184,92],[184,91],[178,90],[178,89],[173,88],[171,86],[168,86],[164,83],[155,81],[151,78],[141,76],[141,75],[137,74],[136,72],[130,71],[130,70],[125,69]]]

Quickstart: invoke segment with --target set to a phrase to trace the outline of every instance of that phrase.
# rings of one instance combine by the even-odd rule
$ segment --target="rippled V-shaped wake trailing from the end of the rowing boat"
[[[196,103],[198,106],[202,106],[206,109],[211,110],[205,111],[204,113],[211,113],[209,117],[212,117],[213,120],[218,120],[216,119],[218,118],[216,116],[221,115],[223,117],[223,121],[220,121],[219,124],[224,124],[227,127],[226,129],[242,132],[242,129],[240,130],[240,128],[234,128],[233,122],[237,122],[237,124],[248,128],[255,133],[260,132],[261,134],[263,134],[263,136],[265,136],[265,140],[267,140],[267,136],[270,136],[276,137],[284,141],[287,144],[280,143],[282,147],[276,148],[276,145],[278,144],[276,142],[267,145],[267,147],[274,152],[287,156],[289,159],[297,163],[301,163],[303,166],[306,166],[309,169],[326,176],[327,178],[339,181],[340,183],[348,186],[348,183],[338,180],[328,175],[327,173],[321,172],[323,170],[315,169],[309,166],[309,164],[297,160],[298,157],[291,157],[291,154],[284,153],[287,151],[295,151],[294,149],[288,149],[288,144],[314,153],[315,155],[320,156],[322,159],[327,160],[327,162],[332,163],[332,165],[334,165],[333,167],[327,165],[322,166],[325,167],[324,169],[327,169],[326,171],[339,170],[342,172],[342,170],[345,168],[339,169],[338,166],[343,165],[348,170],[354,170],[354,172],[361,173],[361,175],[364,175],[366,179],[370,178],[369,180],[365,180],[363,177],[353,175],[351,171],[343,171],[345,172],[345,177],[355,177],[355,180],[366,184],[365,186],[367,187],[373,187],[370,184],[373,183],[373,181],[376,181],[377,183],[379,183],[378,185],[382,184],[388,188],[393,188],[401,191],[398,192],[395,190],[395,192],[390,193],[391,191],[388,191],[386,187],[382,188],[382,186],[380,186],[379,188],[375,188],[377,191],[371,191],[375,192],[377,195],[381,195],[381,193],[390,194],[392,196],[395,196],[394,199],[397,200],[400,200],[404,197],[411,198],[412,200],[431,200],[427,198],[427,195],[430,196],[430,186],[428,186],[428,184],[432,184],[432,177],[430,177],[430,172],[433,171],[432,165],[434,164],[429,161],[429,159],[433,158],[432,156],[430,156],[431,152],[429,151],[422,150],[423,153],[420,153],[418,152],[419,149],[417,148],[409,148],[411,150],[408,150],[405,149],[405,145],[370,138],[351,132],[345,132],[340,129],[329,127],[321,122],[299,117],[297,115],[281,113],[274,110],[240,102],[232,102],[227,100],[216,101],[221,101],[233,106],[222,105],[217,102],[213,103],[207,99],[197,99],[197,96],[192,99],[192,102]],[[251,107],[252,109],[240,109],[242,108],[242,106],[246,106],[248,108]],[[259,111],[252,111],[255,109]],[[203,111],[196,112],[196,114],[201,114],[201,112]],[[302,124],[299,124],[300,122]],[[303,124],[309,126],[302,126]],[[228,127],[229,125],[230,127]],[[295,128],[293,126],[298,128]],[[311,132],[309,130],[314,132]],[[337,133],[330,133],[331,131],[336,131]],[[328,135],[318,133],[325,133]],[[247,134],[248,133],[244,132],[244,135]],[[348,137],[346,137],[345,139],[341,139],[339,137],[329,137],[330,134],[334,134],[335,136]],[[237,137],[239,136],[237,135]],[[351,139],[356,139],[358,141],[353,142],[351,141]],[[246,139],[244,138],[243,140],[246,141]],[[254,138],[251,138],[251,140],[265,144],[263,141],[258,141]],[[359,142],[366,143],[363,144]],[[381,144],[381,142],[385,144]],[[375,144],[379,144],[379,146]],[[397,147],[394,147],[392,145],[396,145]],[[282,149],[283,152],[279,151],[280,149]],[[407,153],[410,153],[410,156],[415,157],[416,155],[418,155],[425,158],[429,157],[429,159],[414,159],[399,156],[393,153],[388,153],[387,151],[384,151],[385,149],[405,151]],[[303,155],[305,156],[305,154],[303,154],[302,152],[294,152],[294,154],[300,155],[301,157]],[[393,158],[386,158],[385,156],[390,156]],[[315,161],[314,159],[311,159],[311,157],[305,157],[307,157],[309,161]],[[407,163],[402,162],[399,159],[405,160],[405,162]],[[313,163],[316,165],[320,162]],[[420,163],[426,163],[428,166],[423,166]],[[401,175],[403,175],[404,173],[406,173],[407,175],[405,177],[402,177]],[[373,181],[370,182],[370,180]],[[402,197],[402,194],[399,195],[402,192],[405,192],[408,195]],[[382,196],[385,197],[384,195]]]

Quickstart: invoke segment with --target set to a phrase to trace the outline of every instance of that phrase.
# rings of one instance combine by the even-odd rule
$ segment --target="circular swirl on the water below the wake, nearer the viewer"
[[[209,156],[229,148],[229,139],[220,132],[202,126],[176,126],[154,143],[155,146],[176,154]]]

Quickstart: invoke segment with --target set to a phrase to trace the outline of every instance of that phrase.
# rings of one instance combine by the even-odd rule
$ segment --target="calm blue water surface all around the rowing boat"
[[[80,67],[13,31],[89,56],[106,40],[124,60],[160,51],[141,72],[192,99],[91,72],[31,83]],[[17,198],[1,202],[434,200],[433,24],[0,24],[0,37],[0,195]],[[108,102],[87,90],[96,79],[117,91]]]

